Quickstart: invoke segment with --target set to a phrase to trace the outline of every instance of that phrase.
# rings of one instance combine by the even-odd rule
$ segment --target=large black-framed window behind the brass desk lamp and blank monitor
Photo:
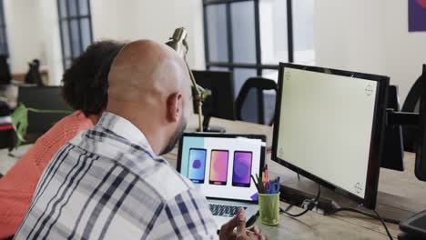
[[[235,96],[256,75],[277,80],[279,62],[315,64],[314,0],[203,0],[206,65],[234,74]]]

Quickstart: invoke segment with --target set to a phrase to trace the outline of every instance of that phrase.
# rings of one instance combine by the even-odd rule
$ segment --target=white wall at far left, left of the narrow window
[[[12,73],[26,73],[38,58],[49,72],[49,85],[62,76],[56,0],[5,0],[5,22]]]

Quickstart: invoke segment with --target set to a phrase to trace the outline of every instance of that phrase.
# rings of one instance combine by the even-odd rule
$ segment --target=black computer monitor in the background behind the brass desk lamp
[[[205,132],[224,132],[225,129],[210,127],[210,117],[215,116],[235,120],[234,82],[230,72],[192,71],[198,85],[211,91],[211,95],[203,103],[203,128]],[[194,112],[198,114],[197,101],[194,101]]]

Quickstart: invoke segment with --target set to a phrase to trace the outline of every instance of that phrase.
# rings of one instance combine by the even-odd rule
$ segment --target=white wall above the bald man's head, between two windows
[[[92,0],[94,39],[152,39],[166,42],[180,26],[188,30],[188,64],[204,68],[202,3],[200,0]]]

